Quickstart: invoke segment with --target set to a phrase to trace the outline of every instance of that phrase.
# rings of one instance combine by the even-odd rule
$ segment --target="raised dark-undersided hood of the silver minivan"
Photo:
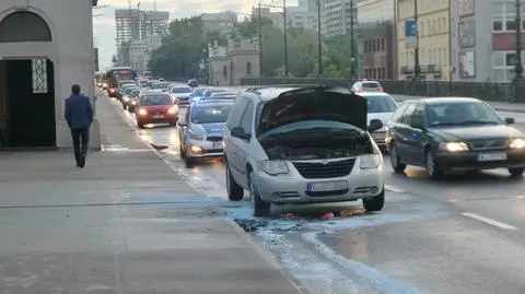
[[[304,120],[331,120],[366,130],[368,103],[343,87],[312,86],[281,93],[261,109],[258,136]]]

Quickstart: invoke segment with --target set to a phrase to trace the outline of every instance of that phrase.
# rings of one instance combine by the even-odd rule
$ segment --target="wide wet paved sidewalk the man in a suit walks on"
[[[121,151],[84,169],[70,152],[0,153],[0,293],[307,293],[108,98],[96,107],[103,143]]]

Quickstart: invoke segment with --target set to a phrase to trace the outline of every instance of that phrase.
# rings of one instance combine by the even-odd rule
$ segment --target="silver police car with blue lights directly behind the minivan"
[[[224,124],[232,109],[230,101],[206,101],[192,103],[178,121],[180,157],[186,166],[198,160],[221,157]]]

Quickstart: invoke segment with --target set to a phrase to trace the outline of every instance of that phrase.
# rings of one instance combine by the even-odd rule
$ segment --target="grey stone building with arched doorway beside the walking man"
[[[92,0],[0,1],[2,148],[72,148],[65,97],[72,84],[94,97],[92,7]],[[95,120],[92,149],[101,149],[100,138]]]

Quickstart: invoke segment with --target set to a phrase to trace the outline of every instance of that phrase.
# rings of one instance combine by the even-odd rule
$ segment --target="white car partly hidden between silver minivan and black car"
[[[375,143],[383,150],[386,151],[386,131],[388,120],[390,119],[394,111],[397,109],[397,104],[394,98],[383,92],[363,92],[359,93],[360,96],[364,97],[368,103],[368,120],[369,126],[373,119],[378,119],[383,124],[383,128],[373,131],[371,133]]]

